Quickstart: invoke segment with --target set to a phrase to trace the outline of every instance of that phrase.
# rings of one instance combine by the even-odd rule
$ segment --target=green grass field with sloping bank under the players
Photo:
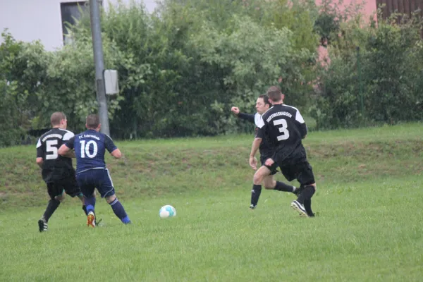
[[[422,281],[422,136],[422,123],[310,133],[314,219],[276,191],[248,210],[252,136],[118,142],[125,159],[107,161],[133,225],[98,200],[104,226],[87,228],[68,198],[47,233],[35,148],[1,149],[0,281]],[[176,218],[159,219],[164,204]]]

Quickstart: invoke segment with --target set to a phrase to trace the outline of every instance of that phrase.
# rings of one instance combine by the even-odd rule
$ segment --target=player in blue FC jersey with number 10
[[[76,180],[85,198],[87,205],[87,226],[95,227],[95,188],[99,190],[102,198],[110,204],[114,214],[125,224],[130,223],[130,219],[123,209],[121,202],[115,195],[113,183],[109,170],[106,168],[104,154],[107,151],[120,159],[121,150],[114,145],[113,140],[104,133],[99,133],[101,124],[99,116],[90,114],[87,116],[85,126],[87,130],[71,137],[68,142],[59,149],[59,154],[66,155],[75,149],[76,156]]]

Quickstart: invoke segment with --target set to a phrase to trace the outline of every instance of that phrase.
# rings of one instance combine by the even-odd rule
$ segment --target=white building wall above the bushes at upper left
[[[53,51],[63,46],[60,4],[77,1],[84,0],[0,0],[0,32],[8,28],[15,39],[24,42],[39,39],[46,50]],[[104,0],[104,8],[116,2]],[[150,13],[157,6],[155,0],[143,2]]]

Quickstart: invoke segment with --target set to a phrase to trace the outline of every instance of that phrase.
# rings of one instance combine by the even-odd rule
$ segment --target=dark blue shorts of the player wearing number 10
[[[107,168],[95,168],[88,171],[82,171],[76,175],[76,180],[85,197],[92,197],[94,189],[99,190],[102,198],[113,196],[115,194],[113,182]]]

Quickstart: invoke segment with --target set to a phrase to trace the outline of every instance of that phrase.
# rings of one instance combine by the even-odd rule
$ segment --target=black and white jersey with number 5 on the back
[[[42,178],[45,182],[75,176],[72,159],[57,153],[62,144],[74,134],[65,129],[53,128],[44,133],[37,142],[37,158],[42,158]]]

